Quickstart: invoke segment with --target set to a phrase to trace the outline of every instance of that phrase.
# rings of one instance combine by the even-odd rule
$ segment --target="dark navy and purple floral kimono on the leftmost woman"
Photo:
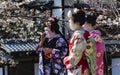
[[[53,48],[51,57],[44,55],[44,47]],[[39,52],[39,75],[67,75],[66,67],[63,63],[64,57],[68,53],[68,45],[60,34],[56,34],[53,39],[45,41]]]

